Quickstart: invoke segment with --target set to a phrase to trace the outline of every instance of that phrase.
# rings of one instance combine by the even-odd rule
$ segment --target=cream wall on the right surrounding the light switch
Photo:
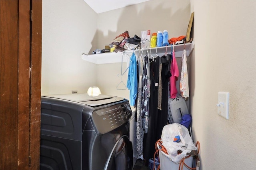
[[[256,1],[191,1],[190,110],[203,170],[256,167]],[[229,119],[217,114],[229,92]]]

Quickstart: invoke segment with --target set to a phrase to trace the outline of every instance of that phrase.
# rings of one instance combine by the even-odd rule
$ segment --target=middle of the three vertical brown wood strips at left
[[[30,0],[19,1],[18,168],[29,166]]]

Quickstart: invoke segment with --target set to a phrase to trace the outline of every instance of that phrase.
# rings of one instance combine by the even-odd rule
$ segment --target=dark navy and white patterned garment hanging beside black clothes
[[[148,98],[150,97],[150,66],[149,58],[146,55],[144,59],[142,73],[142,107],[141,115],[143,117],[144,132],[148,133]]]

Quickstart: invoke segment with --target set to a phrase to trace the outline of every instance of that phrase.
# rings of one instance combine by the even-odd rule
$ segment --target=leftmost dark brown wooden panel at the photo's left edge
[[[0,169],[18,169],[18,0],[0,0]]]

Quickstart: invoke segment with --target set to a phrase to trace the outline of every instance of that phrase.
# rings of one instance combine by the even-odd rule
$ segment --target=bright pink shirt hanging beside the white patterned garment
[[[178,93],[176,88],[176,81],[178,80],[180,72],[179,72],[177,61],[175,59],[174,51],[172,52],[171,74],[172,76],[170,77],[170,96],[171,98],[176,98]]]

